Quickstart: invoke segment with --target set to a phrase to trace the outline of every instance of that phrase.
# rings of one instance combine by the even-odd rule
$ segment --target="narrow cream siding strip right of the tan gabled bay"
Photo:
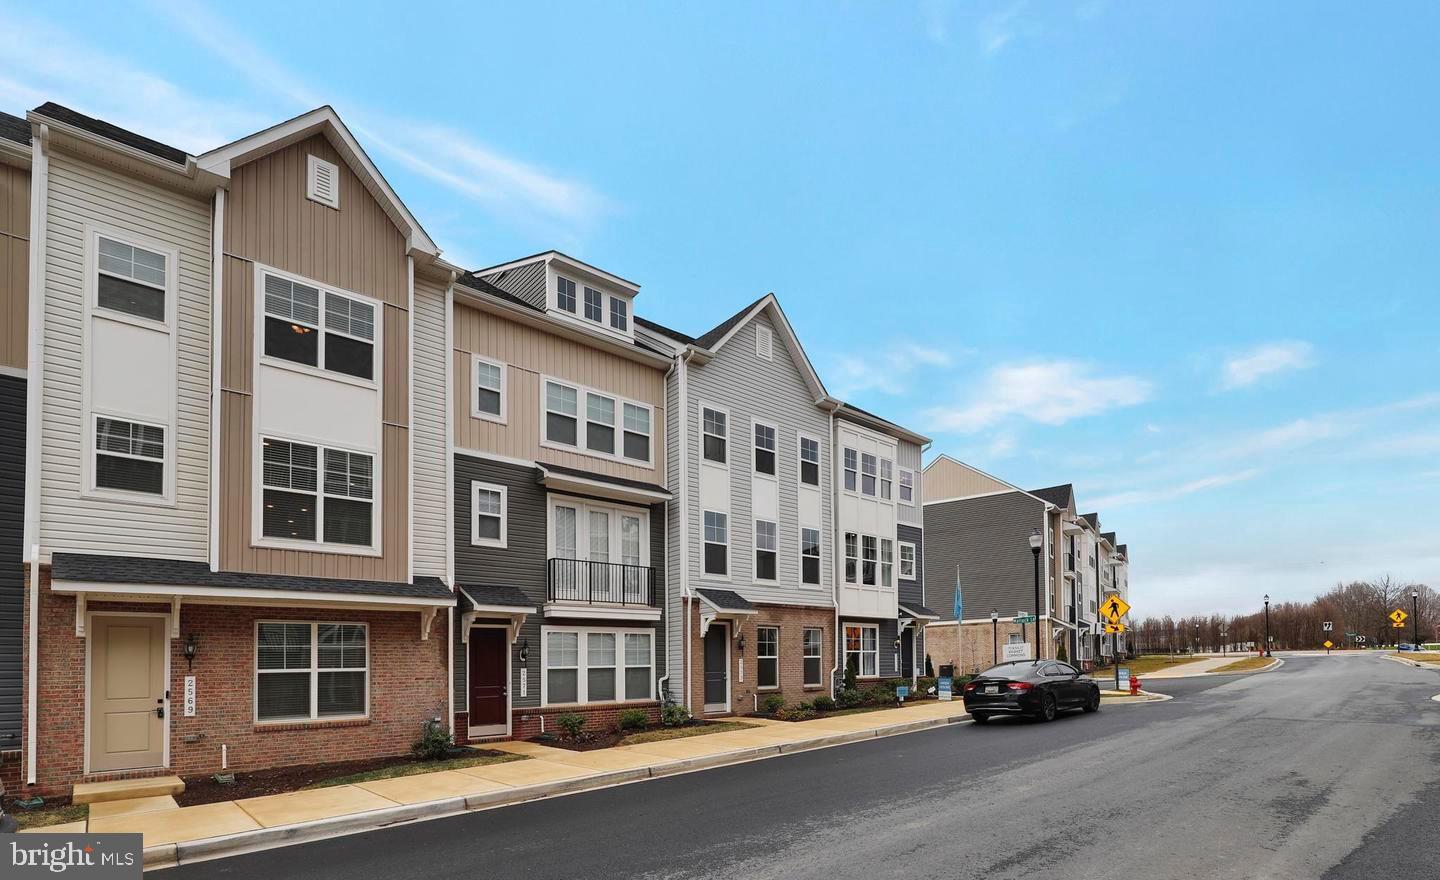
[[[446,573],[445,288],[415,281],[415,573]]]

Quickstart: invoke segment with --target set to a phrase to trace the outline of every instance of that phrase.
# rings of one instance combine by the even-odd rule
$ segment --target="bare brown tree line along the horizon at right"
[[[1336,583],[1310,602],[1272,602],[1270,635],[1277,651],[1335,647],[1394,645],[1411,639],[1413,621],[1403,629],[1391,625],[1390,614],[1411,614],[1411,592],[1420,593],[1420,639],[1440,641],[1440,593],[1424,583],[1407,583],[1385,575],[1374,580]],[[1326,632],[1323,624],[1333,625]],[[1185,651],[1247,651],[1264,645],[1264,605],[1256,596],[1256,611],[1247,615],[1145,618],[1130,629],[1132,650],[1140,654]],[[1364,642],[1356,639],[1364,637]]]

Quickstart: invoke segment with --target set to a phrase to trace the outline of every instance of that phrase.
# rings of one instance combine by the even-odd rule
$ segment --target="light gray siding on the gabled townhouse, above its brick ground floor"
[[[772,333],[772,360],[756,356],[756,327]],[[768,313],[760,313],[740,327],[704,366],[687,369],[685,442],[691,589],[714,586],[736,589],[752,602],[778,605],[834,606],[834,523],[831,510],[831,434],[829,415],[815,405],[815,396],[780,341]],[[714,405],[729,410],[730,468],[730,576],[704,573],[704,508],[700,491],[701,408]],[[775,583],[756,582],[755,518],[752,480],[755,472],[753,421],[776,428],[776,478],[779,481],[779,523],[776,524],[778,578]],[[821,533],[819,586],[802,586],[799,578],[799,439],[804,432],[819,441],[819,511]]]

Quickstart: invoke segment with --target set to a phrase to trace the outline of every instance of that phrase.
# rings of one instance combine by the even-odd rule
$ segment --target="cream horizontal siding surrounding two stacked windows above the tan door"
[[[204,560],[209,557],[210,205],[59,151],[52,156],[49,180],[42,552]],[[128,230],[180,253],[174,507],[81,497],[85,223]]]

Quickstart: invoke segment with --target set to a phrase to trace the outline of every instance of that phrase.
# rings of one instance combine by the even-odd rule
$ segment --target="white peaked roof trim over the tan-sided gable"
[[[400,202],[400,196],[390,189],[390,183],[384,179],[384,174],[370,161],[370,156],[360,147],[360,141],[350,134],[346,124],[340,121],[340,114],[328,104],[300,114],[292,120],[271,125],[264,131],[242,137],[238,141],[230,141],[223,147],[216,147],[199,156],[197,163],[204,171],[229,177],[232,167],[268,156],[314,134],[324,134],[336,147],[336,151],[340,153],[340,157],[346,160],[350,170],[364,183],[364,187],[380,203],[380,207],[390,216],[390,220],[406,235],[406,245],[410,249],[439,256],[439,248],[431,241],[420,222]]]

